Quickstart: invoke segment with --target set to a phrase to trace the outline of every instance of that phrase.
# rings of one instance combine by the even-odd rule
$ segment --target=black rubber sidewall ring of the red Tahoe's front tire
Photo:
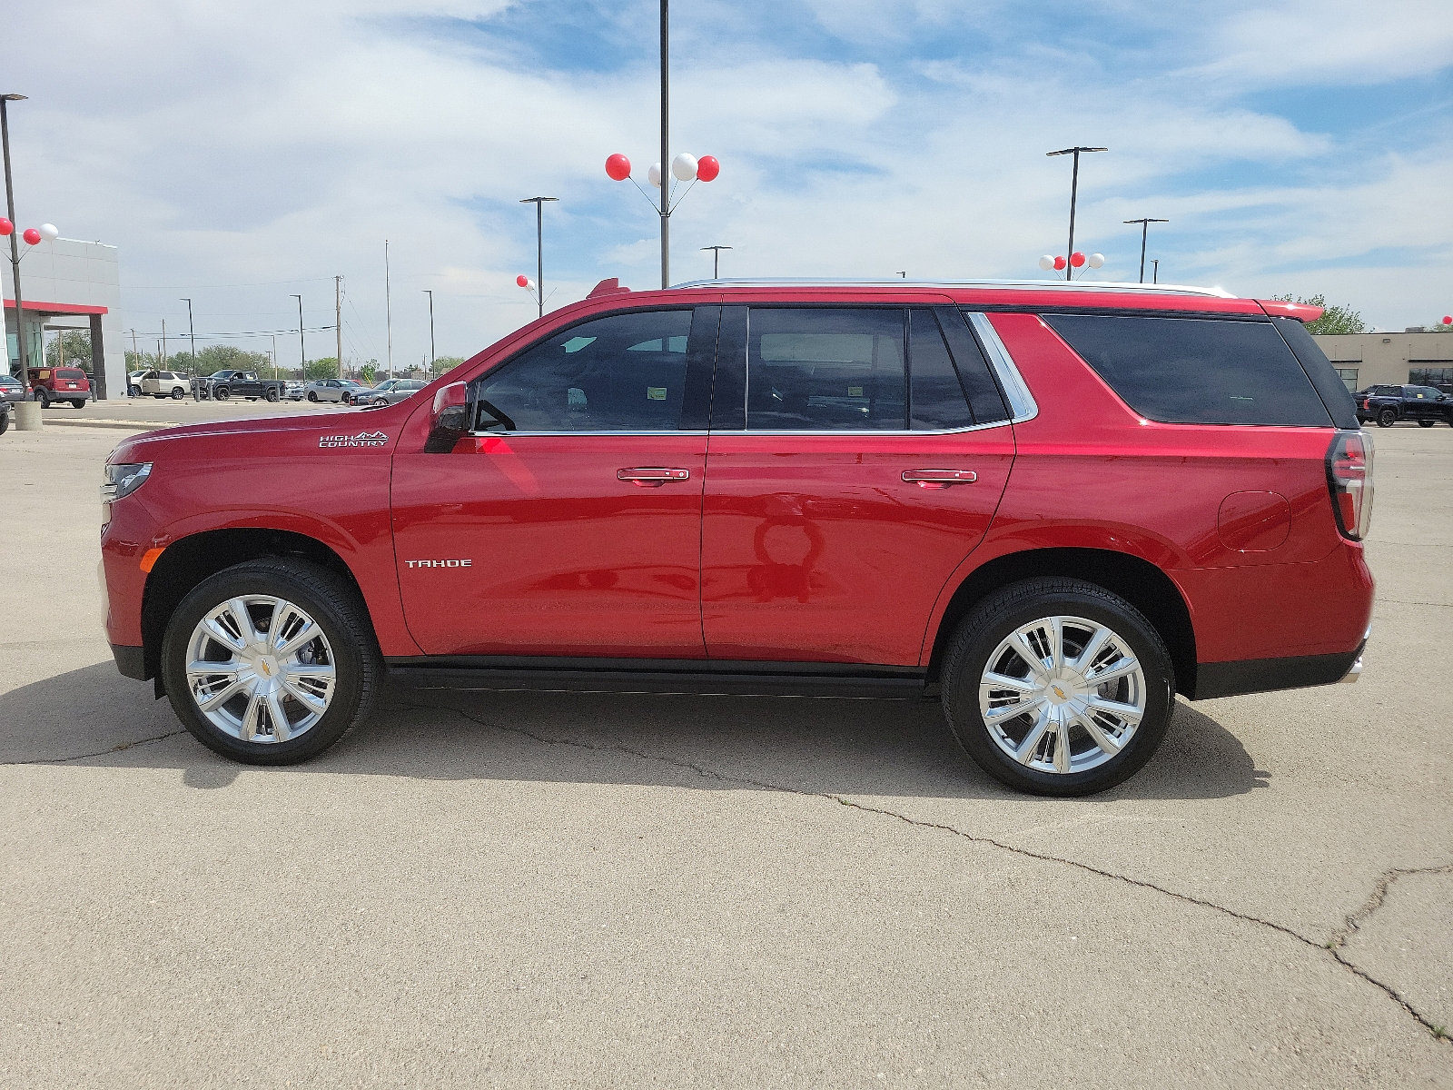
[[[206,613],[240,594],[270,594],[302,607],[323,629],[333,651],[337,670],[333,701],[317,724],[289,741],[259,744],[234,738],[202,714],[187,685],[186,655],[192,631]],[[325,750],[353,722],[365,693],[360,637],[352,631],[343,610],[312,586],[312,580],[299,578],[285,564],[241,564],[202,581],[182,599],[161,642],[161,677],[177,718],[203,746],[250,764],[292,764]]]

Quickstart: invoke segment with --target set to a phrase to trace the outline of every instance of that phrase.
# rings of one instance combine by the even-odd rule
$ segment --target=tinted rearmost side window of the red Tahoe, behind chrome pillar
[[[1136,413],[1170,424],[1329,427],[1331,417],[1270,321],[1045,314]]]

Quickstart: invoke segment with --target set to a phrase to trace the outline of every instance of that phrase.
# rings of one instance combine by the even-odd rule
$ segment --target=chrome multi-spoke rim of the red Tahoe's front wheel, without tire
[[[187,687],[214,727],[250,743],[283,743],[328,711],[337,683],[323,628],[269,594],[230,599],[187,641]]]

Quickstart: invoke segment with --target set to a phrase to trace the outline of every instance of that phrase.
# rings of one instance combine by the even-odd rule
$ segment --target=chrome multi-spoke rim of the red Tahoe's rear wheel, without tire
[[[979,714],[994,743],[1024,767],[1067,775],[1104,764],[1145,716],[1145,671],[1113,629],[1048,616],[994,648]]]

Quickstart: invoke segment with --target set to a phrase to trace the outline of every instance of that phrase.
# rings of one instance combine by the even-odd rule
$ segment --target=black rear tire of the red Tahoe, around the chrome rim
[[[1104,763],[1082,772],[1040,772],[1020,764],[1000,748],[979,711],[979,679],[1000,642],[1033,621],[1056,615],[1084,618],[1113,629],[1129,644],[1145,679],[1145,714],[1129,743]],[[953,634],[942,682],[949,730],[974,763],[1001,783],[1032,795],[1093,795],[1126,780],[1159,747],[1175,709],[1170,651],[1151,622],[1117,594],[1074,578],[1030,578],[984,599]]]

